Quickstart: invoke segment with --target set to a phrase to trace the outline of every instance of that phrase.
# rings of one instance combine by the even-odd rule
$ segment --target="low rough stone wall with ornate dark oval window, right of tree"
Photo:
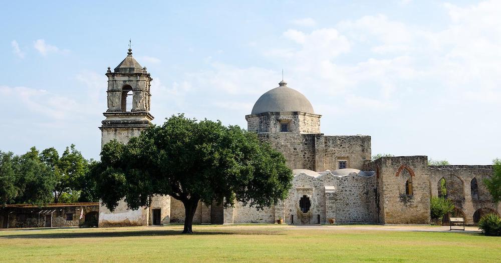
[[[336,222],[374,222],[375,176],[349,174],[337,176],[331,172],[295,170],[293,187],[284,201],[285,221],[294,224],[325,223],[329,218]],[[310,210],[300,210],[300,200],[308,197]]]

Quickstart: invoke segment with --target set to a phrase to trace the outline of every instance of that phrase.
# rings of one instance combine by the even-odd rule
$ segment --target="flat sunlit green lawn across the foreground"
[[[0,261],[501,261],[501,237],[358,226],[195,225],[0,231]]]

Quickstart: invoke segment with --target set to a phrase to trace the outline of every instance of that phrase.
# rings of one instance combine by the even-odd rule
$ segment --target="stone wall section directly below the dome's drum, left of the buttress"
[[[262,133],[258,136],[284,154],[290,168],[315,170],[314,134],[280,132]]]

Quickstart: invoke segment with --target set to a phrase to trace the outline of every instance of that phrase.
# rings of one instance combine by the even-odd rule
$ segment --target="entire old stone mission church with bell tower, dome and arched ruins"
[[[108,68],[108,108],[100,127],[101,145],[117,139],[127,143],[151,125],[151,76],[132,56]],[[245,116],[256,132],[287,158],[294,169],[286,200],[257,210],[200,203],[194,223],[318,224],[329,221],[429,224],[430,197],[444,196],[455,204],[454,216],[473,224],[486,213],[501,212],[491,201],[483,179],[490,165],[429,166],[427,156],[371,159],[371,137],[321,133],[321,115],[300,92],[281,81],[263,94]],[[439,191],[444,185],[446,191]],[[183,204],[170,196],[154,196],[149,207],[129,210],[125,202],[110,212],[99,209],[99,226],[158,225],[184,220]],[[447,220],[447,218],[444,218]]]

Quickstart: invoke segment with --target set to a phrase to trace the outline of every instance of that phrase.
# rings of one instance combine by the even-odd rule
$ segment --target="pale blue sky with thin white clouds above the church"
[[[326,135],[452,164],[501,157],[501,2],[7,2],[0,10],[0,150],[99,158],[106,68],[148,68],[154,122],[185,113],[246,127],[278,86]]]

